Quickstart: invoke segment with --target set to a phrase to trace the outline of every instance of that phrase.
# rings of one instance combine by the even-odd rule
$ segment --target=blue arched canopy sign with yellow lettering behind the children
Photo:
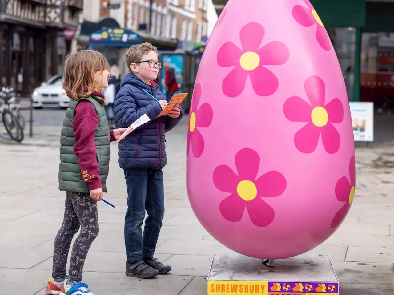
[[[90,35],[90,46],[130,47],[142,43],[142,37],[133,31],[121,28],[108,28]]]

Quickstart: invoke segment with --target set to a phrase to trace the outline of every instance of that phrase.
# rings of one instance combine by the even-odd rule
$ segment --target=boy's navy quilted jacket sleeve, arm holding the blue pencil
[[[134,93],[128,88],[123,88],[117,94],[114,104],[115,119],[121,128],[129,127],[143,114],[153,120],[162,112],[160,103],[151,101],[151,104],[142,108],[137,108],[136,98]]]

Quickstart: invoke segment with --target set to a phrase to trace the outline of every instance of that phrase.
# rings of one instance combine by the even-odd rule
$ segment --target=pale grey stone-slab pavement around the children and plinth
[[[63,113],[49,117],[61,122]],[[185,177],[187,122],[184,118],[167,135],[166,212],[156,256],[172,271],[151,280],[125,276],[126,186],[112,143],[105,198],[116,208],[99,203],[100,233],[84,267],[84,281],[95,295],[204,295],[212,255],[232,253],[191,210]],[[35,125],[34,137],[22,144],[0,139],[0,294],[43,295],[51,274],[65,198],[58,190],[60,127],[47,125]],[[348,217],[309,254],[330,256],[340,295],[394,294],[394,146],[357,148],[356,170]]]

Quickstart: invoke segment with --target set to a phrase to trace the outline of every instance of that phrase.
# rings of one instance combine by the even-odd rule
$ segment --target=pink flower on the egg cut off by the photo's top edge
[[[316,24],[316,39],[319,45],[324,50],[331,50],[331,40],[327,31],[323,26],[323,22],[320,20],[319,15],[316,13],[316,10],[313,9],[313,6],[310,4],[308,0],[303,0],[307,7],[296,5],[293,8],[293,17],[294,19],[304,27],[310,27]]]

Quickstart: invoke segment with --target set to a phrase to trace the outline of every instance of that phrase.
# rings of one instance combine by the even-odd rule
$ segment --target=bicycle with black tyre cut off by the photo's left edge
[[[22,142],[23,128],[17,116],[10,110],[8,100],[3,95],[0,95],[0,117],[8,135],[16,142]]]

